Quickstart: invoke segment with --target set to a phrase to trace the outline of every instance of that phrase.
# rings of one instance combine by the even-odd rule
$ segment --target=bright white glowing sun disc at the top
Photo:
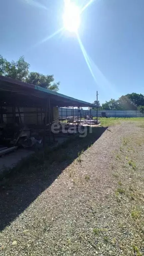
[[[64,27],[70,32],[76,32],[80,25],[80,10],[70,0],[65,0],[65,11],[63,15]]]

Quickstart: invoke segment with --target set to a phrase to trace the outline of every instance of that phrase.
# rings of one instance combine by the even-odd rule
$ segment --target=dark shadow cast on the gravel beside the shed
[[[53,152],[35,154],[14,168],[0,187],[0,230],[20,215],[53,181],[107,129],[93,127],[85,138],[75,138]]]

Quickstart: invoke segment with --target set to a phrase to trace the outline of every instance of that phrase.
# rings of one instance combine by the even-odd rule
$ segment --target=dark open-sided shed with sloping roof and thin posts
[[[0,122],[9,118],[9,123],[14,123],[16,117],[20,124],[28,124],[28,121],[34,120],[34,123],[43,125],[44,144],[46,129],[49,130],[49,137],[52,134],[50,127],[55,119],[54,107],[70,106],[79,109],[95,105],[37,85],[0,76]]]

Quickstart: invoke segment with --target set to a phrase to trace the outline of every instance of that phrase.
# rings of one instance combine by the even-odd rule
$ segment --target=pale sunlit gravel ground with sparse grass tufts
[[[46,175],[31,188],[20,180],[2,191],[7,225],[0,255],[144,255],[143,153],[144,129],[125,122],[109,127],[70,165],[63,163],[50,186]],[[60,166],[54,163],[53,172]],[[23,193],[28,202],[18,209]],[[16,213],[8,225],[9,200]]]

